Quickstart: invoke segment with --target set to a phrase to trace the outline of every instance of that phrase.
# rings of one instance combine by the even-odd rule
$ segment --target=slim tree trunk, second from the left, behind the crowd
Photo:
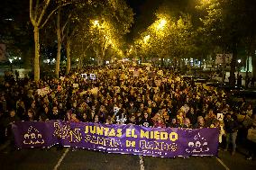
[[[58,49],[57,49],[57,58],[56,58],[56,67],[55,67],[55,75],[57,78],[59,78],[59,65],[60,65],[60,51],[61,51],[61,34],[59,29],[59,19],[60,19],[60,10],[58,11],[57,16],[57,40],[58,40]]]

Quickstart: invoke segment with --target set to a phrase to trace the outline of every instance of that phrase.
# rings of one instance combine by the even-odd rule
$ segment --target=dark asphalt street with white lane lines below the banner
[[[245,160],[244,153],[234,156],[219,151],[219,157],[140,157],[107,154],[87,149],[31,148],[0,151],[1,170],[254,170],[256,161]]]

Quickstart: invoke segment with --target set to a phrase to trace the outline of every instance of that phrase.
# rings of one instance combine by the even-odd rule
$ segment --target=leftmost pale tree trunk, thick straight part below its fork
[[[34,64],[33,64],[33,75],[34,80],[39,81],[40,80],[40,64],[39,64],[39,58],[40,58],[40,43],[39,43],[39,28],[37,25],[34,26],[33,29],[33,37],[34,37]]]

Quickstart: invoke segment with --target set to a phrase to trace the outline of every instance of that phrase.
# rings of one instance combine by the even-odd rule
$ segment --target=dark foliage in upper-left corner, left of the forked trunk
[[[27,21],[28,1],[3,1],[0,5],[0,42],[5,43],[6,57],[22,58],[30,67],[32,53],[32,25]]]

